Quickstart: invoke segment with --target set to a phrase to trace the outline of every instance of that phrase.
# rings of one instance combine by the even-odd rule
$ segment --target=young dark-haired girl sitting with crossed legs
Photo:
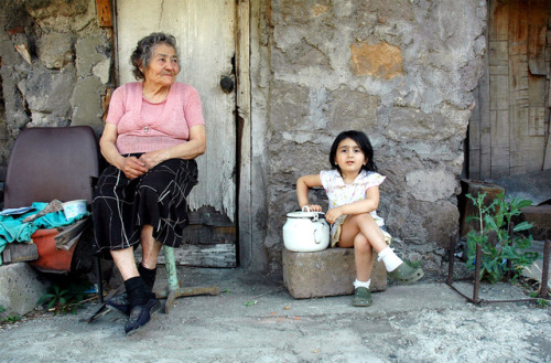
[[[304,175],[296,181],[296,195],[301,209],[321,212],[322,206],[309,203],[309,188],[323,186],[329,200],[325,220],[331,227],[331,246],[354,247],[356,281],[353,305],[368,307],[372,303],[369,276],[374,266],[375,249],[387,268],[387,275],[404,284],[423,277],[421,268],[402,261],[391,249],[390,235],[382,229],[385,223],[377,215],[379,184],[385,177],[378,174],[374,149],[361,131],[344,131],[331,147],[329,163],[333,170],[315,175]]]

